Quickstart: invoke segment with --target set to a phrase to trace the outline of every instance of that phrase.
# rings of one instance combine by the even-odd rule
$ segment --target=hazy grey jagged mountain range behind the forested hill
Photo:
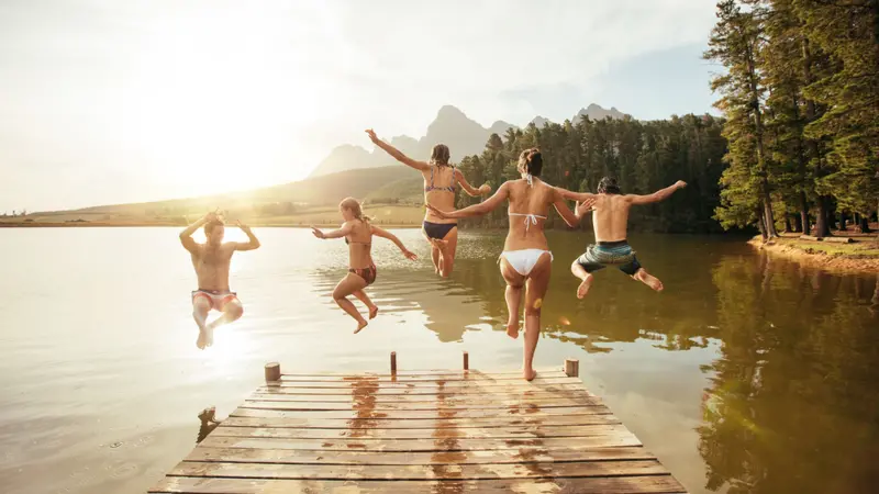
[[[579,122],[581,116],[589,116],[592,120],[623,119],[626,115],[615,108],[604,110],[598,104],[590,104],[580,109],[570,120]],[[543,116],[535,116],[530,123],[537,127],[543,127],[549,120]],[[460,161],[465,156],[478,155],[486,147],[486,142],[491,134],[503,134],[509,128],[519,128],[508,122],[497,121],[488,128],[467,117],[460,110],[452,105],[439,109],[433,123],[427,126],[427,134],[415,139],[408,135],[391,137],[390,144],[400,149],[407,156],[414,159],[426,160],[431,156],[431,149],[435,144],[442,143],[452,150],[452,160]],[[381,149],[375,148],[371,153],[361,146],[345,144],[334,148],[330,155],[318,165],[309,175],[309,178],[335,173],[344,170],[360,168],[377,168],[396,165],[397,161]]]

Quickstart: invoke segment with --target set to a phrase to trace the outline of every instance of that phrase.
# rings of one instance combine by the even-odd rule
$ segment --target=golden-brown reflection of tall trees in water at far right
[[[777,265],[777,266],[776,266]],[[790,262],[724,258],[721,357],[703,397],[706,487],[867,492],[879,474],[876,288]]]

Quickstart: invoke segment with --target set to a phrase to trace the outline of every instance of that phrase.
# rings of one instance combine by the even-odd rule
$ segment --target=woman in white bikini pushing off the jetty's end
[[[550,205],[555,206],[565,223],[574,227],[580,215],[591,207],[590,202],[585,202],[577,206],[577,214],[572,213],[561,193],[539,179],[542,168],[541,151],[536,148],[526,149],[519,157],[522,178],[504,182],[494,195],[481,204],[450,212],[427,205],[441,217],[459,218],[489,213],[509,200],[510,231],[499,259],[501,276],[507,281],[507,307],[510,311],[507,334],[511,338],[519,337],[519,310],[524,285],[525,349],[522,373],[528,381],[537,374],[532,364],[541,330],[541,305],[552,273],[553,252],[543,231],[546,212]]]

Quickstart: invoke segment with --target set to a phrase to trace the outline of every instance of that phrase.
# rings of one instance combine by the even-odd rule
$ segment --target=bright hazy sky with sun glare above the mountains
[[[336,145],[589,103],[711,111],[703,0],[0,2],[0,212],[303,178]]]

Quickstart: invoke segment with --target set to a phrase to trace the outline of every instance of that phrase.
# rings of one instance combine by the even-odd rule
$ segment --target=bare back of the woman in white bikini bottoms
[[[525,179],[507,182],[510,231],[504,250],[548,248],[543,228],[549,206],[556,201],[558,192],[541,179],[534,178],[533,183],[533,187],[528,186]]]

